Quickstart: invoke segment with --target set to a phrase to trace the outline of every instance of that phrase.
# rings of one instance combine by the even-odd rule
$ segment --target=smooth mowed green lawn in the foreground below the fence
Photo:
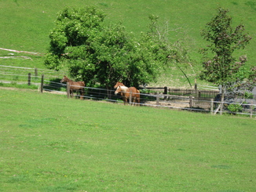
[[[255,128],[0,89],[0,191],[255,191]]]

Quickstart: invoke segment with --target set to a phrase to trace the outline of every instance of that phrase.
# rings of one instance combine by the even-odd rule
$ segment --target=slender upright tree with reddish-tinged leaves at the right
[[[248,34],[244,34],[243,24],[232,28],[232,17],[227,13],[228,9],[218,8],[218,14],[201,31],[201,35],[210,42],[210,45],[201,49],[203,71],[200,78],[221,85],[221,101],[224,100],[223,90],[237,81],[247,61],[247,56],[240,56],[237,61],[233,56],[234,52],[237,49],[244,49],[251,40]]]

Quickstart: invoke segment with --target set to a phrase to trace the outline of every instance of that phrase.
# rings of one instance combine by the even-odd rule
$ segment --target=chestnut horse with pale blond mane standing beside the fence
[[[126,87],[123,85],[119,85],[117,86],[117,89],[115,90],[115,95],[117,95],[118,93],[121,93],[121,96],[123,98],[123,104],[126,105],[126,103],[128,103],[128,100],[130,100],[130,94],[131,94],[131,102],[140,103],[140,91],[137,90],[135,87]]]

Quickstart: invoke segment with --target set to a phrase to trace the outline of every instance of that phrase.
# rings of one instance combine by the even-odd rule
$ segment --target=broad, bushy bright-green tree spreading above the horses
[[[46,66],[68,65],[72,78],[108,89],[116,81],[128,86],[154,81],[170,49],[148,34],[134,38],[122,24],[104,24],[104,17],[93,7],[61,11],[49,35]]]

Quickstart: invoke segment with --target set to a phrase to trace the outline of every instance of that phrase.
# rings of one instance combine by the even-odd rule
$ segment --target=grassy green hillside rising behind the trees
[[[256,3],[250,0],[227,0],[227,1],[93,1],[93,0],[73,0],[73,1],[0,1],[1,20],[0,24],[0,48],[16,49],[29,52],[46,53],[49,45],[49,31],[54,27],[54,20],[57,12],[65,6],[86,6],[96,5],[107,13],[106,22],[117,22],[121,20],[127,31],[139,34],[147,31],[148,15],[159,15],[162,21],[169,20],[170,28],[177,29],[170,33],[172,42],[181,39],[188,49],[188,54],[192,58],[192,64],[198,71],[196,63],[199,63],[199,47],[206,45],[200,36],[199,31],[216,14],[218,6],[230,9],[234,25],[242,22],[252,36],[251,44],[246,50],[238,55],[247,54],[248,65],[252,66],[256,62],[254,48],[256,47]],[[0,56],[9,56],[9,52],[0,50]],[[24,53],[14,53],[15,56],[31,56]],[[21,59],[0,59],[2,65],[14,65],[23,67],[44,67],[41,56],[31,56],[31,60]],[[195,74],[188,67],[189,74]],[[174,72],[175,71],[175,72]],[[169,75],[170,74],[170,75]],[[176,69],[171,69],[167,76],[175,75],[180,78],[181,73]],[[168,78],[168,77],[167,77]],[[163,80],[163,79],[161,79]]]

